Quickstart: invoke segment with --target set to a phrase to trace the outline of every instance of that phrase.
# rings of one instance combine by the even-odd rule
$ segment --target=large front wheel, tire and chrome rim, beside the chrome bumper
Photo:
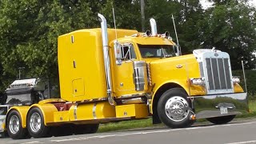
[[[191,126],[190,103],[186,91],[181,88],[167,90],[158,101],[158,116],[171,128]]]

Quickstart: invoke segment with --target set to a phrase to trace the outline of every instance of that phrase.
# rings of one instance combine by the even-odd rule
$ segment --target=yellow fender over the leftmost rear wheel
[[[18,114],[20,114],[21,116],[22,127],[26,128],[26,115],[29,109],[30,109],[30,106],[13,106],[10,108],[10,110],[8,110],[7,116],[11,110],[18,111]]]

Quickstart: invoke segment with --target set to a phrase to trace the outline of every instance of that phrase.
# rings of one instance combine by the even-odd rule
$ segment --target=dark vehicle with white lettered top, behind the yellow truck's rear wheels
[[[38,78],[15,80],[0,95],[0,135],[6,136],[6,113],[11,106],[30,106],[44,99],[44,82]],[[15,127],[13,127],[15,129]]]

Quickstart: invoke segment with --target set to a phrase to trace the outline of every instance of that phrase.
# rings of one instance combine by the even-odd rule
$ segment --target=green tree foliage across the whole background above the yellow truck
[[[182,54],[198,48],[213,48],[230,54],[232,68],[246,62],[255,67],[255,8],[244,2],[214,0],[214,7],[202,10],[199,0],[145,0],[146,29],[150,18],[158,33],[170,31],[176,41],[172,14]],[[103,14],[114,28],[141,30],[140,0],[2,0],[0,1],[0,91],[17,78],[50,78],[58,83],[58,36],[73,30],[99,27]]]

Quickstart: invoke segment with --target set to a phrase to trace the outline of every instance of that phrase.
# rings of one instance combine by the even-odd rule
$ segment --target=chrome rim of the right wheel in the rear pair
[[[41,129],[41,116],[38,113],[33,113],[30,117],[30,129],[37,133]]]

